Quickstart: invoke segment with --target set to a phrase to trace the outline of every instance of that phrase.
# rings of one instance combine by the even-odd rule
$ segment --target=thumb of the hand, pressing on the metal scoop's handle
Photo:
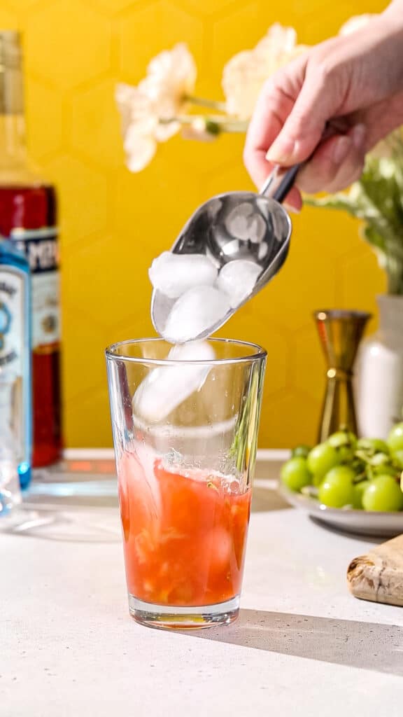
[[[321,141],[328,119],[336,110],[332,95],[333,92],[326,91],[321,82],[314,81],[313,77],[305,78],[283,129],[267,151],[268,161],[290,166],[310,157]]]

